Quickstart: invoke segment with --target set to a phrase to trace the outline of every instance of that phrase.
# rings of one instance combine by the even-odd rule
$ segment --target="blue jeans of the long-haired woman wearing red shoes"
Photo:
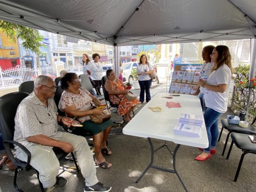
[[[218,119],[221,115],[222,113],[214,111],[211,108],[207,108],[204,112],[205,127],[209,141],[209,147],[204,148],[204,152],[207,154],[216,146],[219,135]]]

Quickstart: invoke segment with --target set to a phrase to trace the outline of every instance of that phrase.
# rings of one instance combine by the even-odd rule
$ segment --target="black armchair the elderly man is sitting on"
[[[37,175],[37,178],[38,178],[38,181],[40,184],[40,188],[42,191],[44,191],[44,187],[39,180],[38,171],[35,170],[35,168],[33,168],[29,164],[30,159],[31,159],[31,153],[29,152],[29,150],[26,147],[24,147],[24,145],[21,145],[17,141],[13,141],[14,130],[15,130],[14,118],[16,115],[16,111],[17,111],[17,108],[18,108],[20,102],[24,98],[26,98],[28,95],[29,94],[26,92],[14,92],[14,93],[8,93],[0,98],[0,129],[1,129],[1,133],[3,134],[4,148],[6,150],[6,153],[8,154],[8,157],[11,159],[12,163],[16,167],[15,175],[14,175],[14,179],[13,179],[13,184],[14,184],[15,189],[17,189],[17,191],[22,191],[17,186],[17,182],[16,182],[17,174],[19,172],[21,172],[22,170],[26,170],[26,171],[34,170],[36,172],[36,175]],[[13,154],[12,154],[12,148],[14,147],[13,145],[16,145],[17,147],[21,148],[27,154],[28,159],[26,162],[20,161],[15,156],[13,156]],[[68,155],[66,152],[61,150],[61,148],[54,147],[53,150],[60,161],[61,161],[61,159],[64,159]],[[74,163],[76,164],[76,170],[77,170],[76,173],[78,173],[79,168],[77,166],[76,159],[75,159],[73,153],[71,153],[71,155],[74,160]],[[63,169],[66,170],[65,168],[63,168]]]

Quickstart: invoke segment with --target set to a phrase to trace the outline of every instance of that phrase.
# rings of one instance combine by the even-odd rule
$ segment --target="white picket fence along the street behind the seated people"
[[[72,67],[65,68],[68,72],[83,74],[83,65],[77,64]],[[52,79],[59,76],[54,66],[42,68],[28,68],[17,65],[7,70],[1,70],[0,67],[0,88],[6,86],[17,86],[25,81],[33,81],[37,76],[45,75]]]

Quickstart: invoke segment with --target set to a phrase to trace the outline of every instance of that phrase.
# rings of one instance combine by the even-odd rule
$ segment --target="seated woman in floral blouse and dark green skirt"
[[[67,73],[61,79],[61,88],[65,91],[61,95],[59,109],[64,111],[68,116],[77,116],[77,119],[83,123],[83,129],[93,133],[93,145],[95,147],[95,163],[102,168],[109,168],[111,163],[106,162],[102,156],[110,155],[111,151],[107,148],[106,141],[109,131],[111,130],[112,120],[95,124],[90,120],[90,115],[100,114],[103,109],[91,109],[92,102],[97,106],[102,105],[99,99],[94,97],[90,92],[81,88],[80,79],[77,74]]]

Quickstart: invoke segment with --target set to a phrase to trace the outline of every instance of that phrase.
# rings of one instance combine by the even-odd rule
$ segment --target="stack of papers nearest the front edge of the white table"
[[[196,125],[177,123],[177,125],[174,127],[174,132],[193,138],[200,138],[201,128],[202,126],[200,127]]]

